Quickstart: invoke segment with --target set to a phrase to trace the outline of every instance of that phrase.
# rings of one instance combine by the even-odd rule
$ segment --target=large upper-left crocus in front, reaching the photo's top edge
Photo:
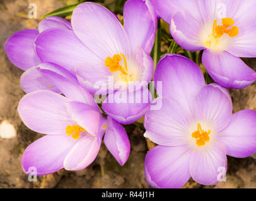
[[[140,119],[151,101],[148,89],[141,86],[148,85],[153,77],[149,53],[154,43],[156,16],[149,1],[125,3],[124,27],[111,11],[90,2],[74,9],[71,24],[73,31],[52,29],[38,36],[35,50],[40,60],[76,73],[79,84],[91,94],[111,93],[117,97],[121,90],[117,88],[122,87],[122,104],[106,99],[102,108],[122,124]],[[100,92],[95,88],[99,82]],[[130,90],[134,83],[139,83],[139,87]],[[119,85],[115,87],[116,84]],[[127,102],[127,97],[138,96],[141,90],[148,93],[147,101]]]

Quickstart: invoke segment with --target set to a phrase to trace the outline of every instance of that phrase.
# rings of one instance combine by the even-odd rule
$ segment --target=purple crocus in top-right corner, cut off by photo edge
[[[202,63],[223,87],[240,89],[256,73],[239,57],[256,57],[255,0],[151,0],[178,45],[204,50]]]

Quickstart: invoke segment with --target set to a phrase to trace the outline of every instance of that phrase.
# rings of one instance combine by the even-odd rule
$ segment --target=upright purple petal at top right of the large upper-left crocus
[[[132,52],[141,46],[150,53],[156,33],[156,15],[149,1],[129,0],[124,5],[124,29],[131,41]]]

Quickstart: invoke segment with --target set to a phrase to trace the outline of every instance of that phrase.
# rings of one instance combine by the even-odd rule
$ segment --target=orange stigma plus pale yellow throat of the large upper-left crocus
[[[122,57],[124,59],[124,67],[120,65],[122,61]],[[113,55],[113,58],[107,57],[105,60],[105,67],[108,67],[110,72],[120,72],[120,78],[125,82],[134,81],[134,75],[128,72],[127,68],[127,60],[124,54],[120,53],[120,55]]]

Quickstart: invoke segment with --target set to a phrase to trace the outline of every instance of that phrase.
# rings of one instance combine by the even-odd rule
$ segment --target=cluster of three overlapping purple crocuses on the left
[[[151,4],[127,1],[124,28],[115,14],[95,3],[80,4],[71,21],[50,16],[38,30],[19,31],[5,44],[9,60],[25,70],[21,88],[28,94],[20,100],[20,117],[28,128],[47,134],[26,148],[22,158],[26,173],[30,167],[37,168],[38,175],[86,168],[96,158],[104,134],[108,150],[124,165],[130,142],[119,122],[137,121],[151,101],[146,91],[146,103],[106,102],[103,108],[109,115],[105,116],[93,97],[95,81],[110,75],[126,86],[152,79],[149,53],[156,16]],[[139,37],[133,39],[134,35]]]

